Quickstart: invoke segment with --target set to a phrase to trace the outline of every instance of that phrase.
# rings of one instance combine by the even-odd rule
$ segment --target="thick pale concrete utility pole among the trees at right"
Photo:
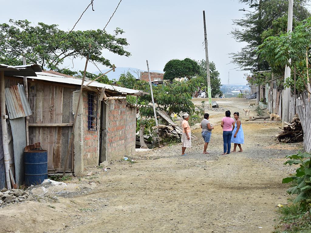
[[[288,1],[288,18],[287,18],[287,32],[291,32],[293,30],[293,0]],[[291,62],[291,59],[288,60]],[[290,67],[285,66],[285,80],[290,77]],[[283,94],[283,109],[282,109],[282,126],[284,126],[284,121],[289,121],[289,111],[290,111],[290,88],[284,88]]]

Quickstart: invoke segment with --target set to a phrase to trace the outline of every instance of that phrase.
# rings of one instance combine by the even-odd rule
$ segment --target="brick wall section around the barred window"
[[[87,92],[83,92],[81,101],[83,101],[83,160],[84,166],[98,165],[98,135],[99,129],[97,131],[88,130],[87,120],[88,120],[88,103],[87,103]],[[97,120],[99,121],[99,106],[97,107]],[[97,122],[98,126],[98,122]],[[97,127],[98,128],[98,127]]]

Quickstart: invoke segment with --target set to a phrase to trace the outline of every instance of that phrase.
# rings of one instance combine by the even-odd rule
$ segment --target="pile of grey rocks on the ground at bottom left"
[[[3,188],[0,192],[0,206],[34,200],[35,197],[30,192],[21,189],[7,190]]]

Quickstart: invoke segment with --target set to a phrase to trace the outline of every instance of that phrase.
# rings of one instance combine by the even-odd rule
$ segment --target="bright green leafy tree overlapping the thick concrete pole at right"
[[[296,87],[300,91],[308,89],[307,74],[310,73],[311,53],[311,18],[300,22],[295,31],[281,34],[280,36],[268,37],[259,46],[258,55],[264,58],[272,71],[278,71],[280,67],[289,66],[292,73],[296,69],[298,75]],[[306,54],[308,64],[306,62]],[[289,63],[291,59],[291,63]],[[286,85],[293,86],[293,77],[286,80]]]

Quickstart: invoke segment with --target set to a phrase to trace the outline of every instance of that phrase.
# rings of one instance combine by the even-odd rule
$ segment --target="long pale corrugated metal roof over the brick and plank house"
[[[62,75],[60,73],[54,74],[54,73],[49,72],[49,71],[48,72],[46,72],[46,71],[36,72],[36,75],[37,75],[36,77],[28,76],[27,78],[37,79],[37,80],[45,80],[45,81],[57,82],[57,83],[72,84],[72,85],[77,85],[77,86],[81,86],[81,83],[82,83],[81,79],[70,77],[68,75]],[[89,82],[90,82],[90,80],[85,80],[84,85],[88,84]],[[128,89],[128,88],[124,88],[124,87],[117,87],[117,86],[113,86],[113,85],[99,83],[96,81],[92,82],[88,86],[105,88],[105,89],[108,89],[110,91],[114,91],[114,92],[118,92],[118,93],[122,93],[122,94],[132,94],[132,95],[148,94],[148,93],[140,91],[140,90]]]

